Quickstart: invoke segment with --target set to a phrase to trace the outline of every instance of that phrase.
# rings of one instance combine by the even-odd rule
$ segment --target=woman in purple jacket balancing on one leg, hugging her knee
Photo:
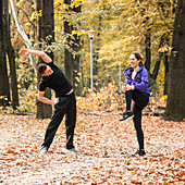
[[[139,149],[132,156],[144,156],[144,133],[141,130],[141,111],[148,104],[150,91],[148,88],[148,73],[143,66],[139,53],[133,53],[130,57],[131,66],[124,71],[126,77],[122,92],[125,92],[126,111],[120,121],[133,118]]]

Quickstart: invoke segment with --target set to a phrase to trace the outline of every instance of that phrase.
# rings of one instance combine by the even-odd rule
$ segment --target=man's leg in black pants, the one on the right
[[[69,95],[70,106],[65,114],[66,149],[73,149],[74,128],[76,124],[76,99],[74,92]]]

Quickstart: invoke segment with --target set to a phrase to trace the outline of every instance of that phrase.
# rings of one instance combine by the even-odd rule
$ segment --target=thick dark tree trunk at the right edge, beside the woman
[[[175,13],[165,118],[185,118],[185,1],[178,0]]]

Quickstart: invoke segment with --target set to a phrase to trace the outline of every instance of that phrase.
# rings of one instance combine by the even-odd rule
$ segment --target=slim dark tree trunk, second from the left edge
[[[15,53],[10,38],[10,16],[9,16],[9,1],[3,0],[4,3],[4,44],[5,51],[9,58],[10,77],[11,77],[11,91],[12,91],[12,107],[16,109],[18,107],[18,94],[17,94],[17,81],[15,70]]]

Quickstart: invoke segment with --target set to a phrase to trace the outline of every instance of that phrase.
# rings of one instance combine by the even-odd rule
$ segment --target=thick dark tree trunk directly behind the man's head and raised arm
[[[51,39],[47,39],[49,45],[54,40],[54,18],[53,18],[53,0],[37,0],[37,8],[41,7],[42,16],[39,20],[39,38],[46,40],[46,37],[51,36]],[[38,11],[38,9],[37,9]],[[45,48],[42,48],[45,49]],[[53,60],[53,53],[48,53]],[[39,61],[40,63],[41,61]],[[40,75],[37,77],[38,83],[40,82]],[[51,98],[51,89],[47,88],[45,97]],[[51,118],[52,107],[50,104],[37,101],[37,119]]]

